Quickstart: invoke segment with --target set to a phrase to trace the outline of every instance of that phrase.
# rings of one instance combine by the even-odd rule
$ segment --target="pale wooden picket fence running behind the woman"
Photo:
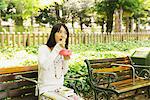
[[[0,32],[0,46],[34,46],[44,44],[49,38],[49,33],[29,33],[29,32]],[[95,44],[95,43],[110,43],[113,41],[132,41],[132,40],[150,40],[150,33],[78,33],[70,34],[70,44]]]

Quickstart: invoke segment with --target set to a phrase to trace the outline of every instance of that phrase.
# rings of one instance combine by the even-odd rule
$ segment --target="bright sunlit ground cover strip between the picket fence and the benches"
[[[110,58],[131,55],[135,49],[150,47],[150,41],[124,41],[100,44],[70,45],[73,51],[70,66],[83,64],[84,59]],[[37,64],[38,46],[21,48],[0,48],[0,67]]]

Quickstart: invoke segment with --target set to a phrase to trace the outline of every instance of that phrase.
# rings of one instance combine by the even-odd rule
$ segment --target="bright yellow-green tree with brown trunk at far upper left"
[[[22,32],[23,21],[31,18],[33,24],[33,16],[38,11],[38,0],[10,0],[8,2],[7,17],[15,20],[16,31]]]

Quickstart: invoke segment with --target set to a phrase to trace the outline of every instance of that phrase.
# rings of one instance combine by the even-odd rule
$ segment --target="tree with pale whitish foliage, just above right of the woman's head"
[[[67,0],[64,2],[63,7],[68,16],[71,16],[73,28],[73,23],[77,17],[79,18],[81,30],[83,30],[83,23],[87,26],[90,24],[90,16],[87,13],[93,6],[93,3],[91,0]]]

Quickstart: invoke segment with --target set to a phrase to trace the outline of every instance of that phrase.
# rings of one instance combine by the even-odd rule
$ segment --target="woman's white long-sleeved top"
[[[68,61],[59,55],[63,48],[56,44],[52,51],[41,45],[38,51],[38,88],[39,94],[55,91],[63,86],[64,75],[68,71]]]

